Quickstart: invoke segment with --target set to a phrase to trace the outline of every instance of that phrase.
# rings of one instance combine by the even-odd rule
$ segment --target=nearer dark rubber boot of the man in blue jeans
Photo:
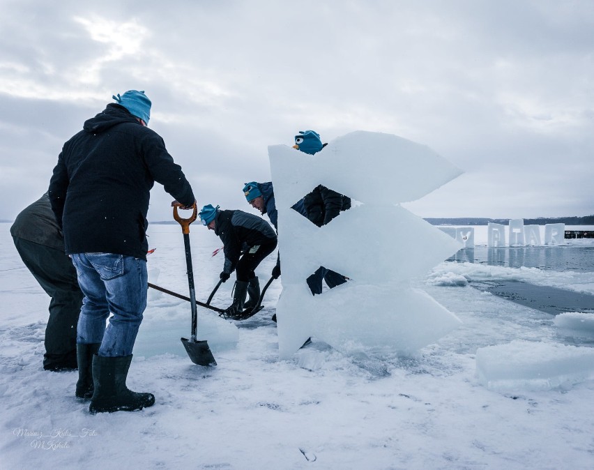
[[[155,395],[152,393],[132,392],[125,386],[131,362],[132,354],[121,357],[93,356],[95,391],[89,406],[92,414],[138,411],[155,404]]]

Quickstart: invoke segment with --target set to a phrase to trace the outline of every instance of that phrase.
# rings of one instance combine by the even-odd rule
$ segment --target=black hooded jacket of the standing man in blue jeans
[[[194,204],[190,183],[163,139],[128,109],[112,103],[86,121],[64,144],[50,181],[66,253],[146,259],[146,213],[155,181],[178,202]]]

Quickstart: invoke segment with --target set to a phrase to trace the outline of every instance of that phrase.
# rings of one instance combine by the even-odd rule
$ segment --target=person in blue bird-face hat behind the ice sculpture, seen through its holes
[[[299,134],[295,136],[295,145],[293,147],[314,155],[325,146],[326,144],[321,143],[319,134],[314,130],[300,130]],[[303,205],[305,206],[307,218],[318,227],[321,227],[337,217],[341,211],[350,209],[351,199],[326,188],[324,185],[317,185],[312,192],[305,195]],[[307,278],[307,285],[310,287],[312,294],[322,293],[322,279],[326,281],[326,285],[330,289],[347,282],[344,275],[320,266],[315,273]]]

